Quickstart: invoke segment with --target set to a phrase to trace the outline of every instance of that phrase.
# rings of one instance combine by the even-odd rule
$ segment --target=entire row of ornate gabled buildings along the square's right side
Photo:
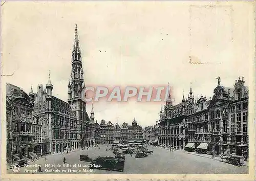
[[[173,106],[170,96],[160,111],[159,143],[175,149],[196,149],[212,155],[234,153],[248,156],[248,87],[244,78],[233,88],[221,85],[207,101],[192,95]]]

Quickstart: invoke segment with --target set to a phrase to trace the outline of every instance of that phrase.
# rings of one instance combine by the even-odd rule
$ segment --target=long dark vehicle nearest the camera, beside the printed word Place
[[[90,163],[90,168],[123,171],[124,162],[119,162],[118,159],[112,156],[99,156]]]

